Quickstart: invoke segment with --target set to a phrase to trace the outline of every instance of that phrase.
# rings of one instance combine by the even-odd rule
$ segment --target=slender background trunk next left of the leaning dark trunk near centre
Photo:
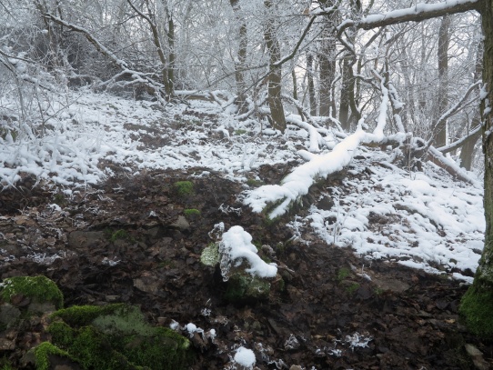
[[[236,16],[236,22],[239,24],[238,28],[238,53],[237,60],[235,61],[235,79],[236,79],[236,101],[235,104],[238,107],[238,113],[240,115],[247,113],[247,85],[245,84],[245,70],[247,60],[247,22],[244,17],[239,14],[240,6],[239,0],[229,0],[229,4],[233,8]]]

